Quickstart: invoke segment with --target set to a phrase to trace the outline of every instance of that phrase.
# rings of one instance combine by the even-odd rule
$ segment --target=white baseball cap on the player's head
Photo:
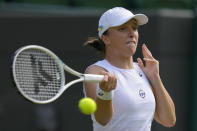
[[[144,14],[133,14],[131,11],[123,7],[114,7],[107,10],[99,20],[98,35],[101,38],[102,34],[110,27],[120,26],[127,21],[135,18],[138,25],[144,25],[148,22],[148,17]]]

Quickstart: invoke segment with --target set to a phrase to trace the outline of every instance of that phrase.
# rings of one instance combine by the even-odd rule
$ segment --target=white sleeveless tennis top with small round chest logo
[[[92,115],[94,131],[150,131],[155,113],[155,98],[151,86],[137,63],[133,69],[120,69],[107,60],[100,66],[117,77],[114,90],[114,115],[107,125],[100,125]]]

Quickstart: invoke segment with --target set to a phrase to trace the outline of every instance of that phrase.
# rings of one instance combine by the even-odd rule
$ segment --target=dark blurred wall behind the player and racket
[[[11,54],[18,48],[38,44],[51,49],[68,66],[84,72],[101,59],[94,49],[84,47],[89,36],[97,35],[97,21],[102,9],[33,7],[0,8],[0,130],[1,131],[91,131],[90,116],[82,115],[77,107],[83,96],[82,83],[66,90],[55,102],[35,105],[16,92],[9,75]],[[191,10],[134,10],[145,13],[149,23],[140,27],[139,44],[146,43],[160,61],[163,83],[174,100],[177,123],[164,128],[153,123],[152,131],[187,131],[190,126],[192,31],[194,14]],[[135,58],[141,57],[139,47]],[[73,79],[66,76],[67,80]]]

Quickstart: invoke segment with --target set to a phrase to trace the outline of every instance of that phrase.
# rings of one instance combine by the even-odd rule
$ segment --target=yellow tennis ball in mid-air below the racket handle
[[[97,105],[92,98],[86,97],[79,101],[78,107],[83,114],[90,115],[96,111]]]

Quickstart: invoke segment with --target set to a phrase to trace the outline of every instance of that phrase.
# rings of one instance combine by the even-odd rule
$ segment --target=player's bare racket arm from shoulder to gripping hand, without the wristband
[[[106,72],[103,68],[98,66],[92,66],[85,72],[86,74],[103,74],[104,80],[100,83],[100,88],[104,91],[111,91],[116,88],[116,78],[114,75]],[[98,83],[84,83],[86,95],[93,98],[97,103],[97,110],[94,113],[95,119],[101,125],[106,125],[113,116],[113,104],[112,100],[102,100],[97,98],[96,89]]]

